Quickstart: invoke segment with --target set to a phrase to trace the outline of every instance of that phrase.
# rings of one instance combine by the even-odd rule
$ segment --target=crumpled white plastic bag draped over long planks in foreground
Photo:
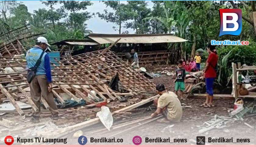
[[[106,106],[101,106],[101,111],[97,112],[96,117],[99,117],[102,124],[110,130],[113,125],[113,117],[109,108]]]

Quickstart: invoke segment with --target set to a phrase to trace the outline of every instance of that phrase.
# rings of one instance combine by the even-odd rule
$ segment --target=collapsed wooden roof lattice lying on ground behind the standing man
[[[108,49],[51,60],[52,92],[60,103],[65,104],[63,93],[74,101],[84,100],[87,105],[94,106],[100,101],[124,101],[127,98],[155,90],[153,82]],[[29,84],[26,81],[25,56],[14,57],[13,54],[22,53],[19,50],[10,52],[6,49],[1,53],[9,53],[9,56],[0,56],[0,89],[2,91],[0,100],[8,98],[18,113],[24,115],[16,101],[26,99],[23,102],[30,104],[36,111],[38,108],[31,100]],[[108,86],[116,73],[126,92],[114,91]],[[41,101],[45,108],[49,107],[44,98]]]

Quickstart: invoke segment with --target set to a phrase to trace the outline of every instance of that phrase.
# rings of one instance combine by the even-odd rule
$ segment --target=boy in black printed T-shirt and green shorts
[[[180,90],[181,99],[183,99],[183,91],[185,91],[185,75],[186,71],[183,68],[183,63],[179,60],[178,69],[176,69],[175,93],[178,95],[178,90]]]

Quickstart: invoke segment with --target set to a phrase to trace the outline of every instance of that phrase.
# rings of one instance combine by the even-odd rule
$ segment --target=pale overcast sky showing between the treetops
[[[34,10],[38,10],[39,8],[46,8],[46,6],[43,5],[42,2],[40,1],[22,1],[22,2],[27,6],[28,11],[30,13],[33,13]],[[93,2],[93,5],[88,6],[86,11],[91,13],[96,13],[96,12],[103,13],[104,9],[108,9],[109,11],[112,11],[111,8],[109,7],[106,8],[103,2],[99,2],[99,1],[92,1],[92,2]],[[121,1],[121,3],[126,3],[126,1]],[[62,4],[57,4],[55,5],[55,8],[58,9],[61,5]],[[148,1],[148,7],[152,8],[152,6],[153,6],[153,3],[151,1]],[[113,26],[116,26],[115,24],[111,22],[106,22],[105,20],[98,18],[98,16],[95,16],[94,18],[89,19],[86,23],[88,24],[88,29],[92,30],[93,33],[112,33],[112,34],[118,33],[118,30],[115,31],[112,28]],[[121,32],[124,32],[125,30],[128,30],[129,33],[134,33],[133,29],[126,29],[126,28],[122,28]]]

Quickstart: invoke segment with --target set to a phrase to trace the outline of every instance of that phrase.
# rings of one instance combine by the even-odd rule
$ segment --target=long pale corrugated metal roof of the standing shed
[[[187,41],[172,34],[89,34],[87,37],[100,44],[114,43],[119,38],[121,40],[118,43],[174,43]]]

